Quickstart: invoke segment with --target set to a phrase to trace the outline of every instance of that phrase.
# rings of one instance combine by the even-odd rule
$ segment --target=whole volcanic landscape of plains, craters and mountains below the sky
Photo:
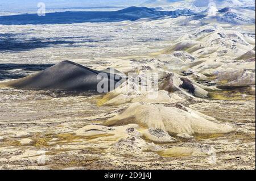
[[[255,7],[209,11],[0,16],[0,169],[255,169]]]

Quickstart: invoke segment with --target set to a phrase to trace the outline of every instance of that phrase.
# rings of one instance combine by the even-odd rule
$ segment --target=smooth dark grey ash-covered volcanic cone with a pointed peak
[[[97,75],[102,72],[71,61],[63,61],[34,75],[7,82],[5,86],[26,90],[97,91],[97,85],[102,81],[102,79],[97,79]],[[104,78],[103,81],[108,85],[110,83],[115,85],[119,81],[119,79],[114,79],[114,75],[106,74],[108,78]],[[113,90],[114,87],[109,89]]]

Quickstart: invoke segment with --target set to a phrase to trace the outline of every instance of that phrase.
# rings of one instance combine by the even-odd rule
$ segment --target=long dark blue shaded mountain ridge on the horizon
[[[127,7],[118,11],[66,11],[52,12],[46,16],[37,14],[22,14],[0,16],[0,24],[70,24],[84,22],[121,22],[135,21],[141,18],[156,18],[158,16],[190,16],[195,13],[191,10],[158,11],[147,7]]]

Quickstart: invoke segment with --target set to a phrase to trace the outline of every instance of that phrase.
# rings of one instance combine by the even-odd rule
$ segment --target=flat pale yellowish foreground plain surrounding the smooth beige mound
[[[196,136],[199,144],[216,149],[216,163],[209,155],[162,157],[157,152],[137,154],[108,152],[105,142],[70,133],[85,125],[100,123],[118,111],[99,107],[99,96],[60,96],[43,91],[1,89],[0,142],[1,169],[254,169],[254,100],[201,100],[191,104],[194,110],[228,122],[236,132],[224,135]],[[6,99],[7,98],[7,99]],[[20,133],[16,135],[14,133]],[[17,142],[31,138],[32,145]],[[57,138],[53,139],[52,138]],[[175,144],[160,144],[170,148]],[[39,152],[38,152],[39,151]],[[40,152],[41,151],[41,152]],[[46,151],[46,163],[38,158]]]

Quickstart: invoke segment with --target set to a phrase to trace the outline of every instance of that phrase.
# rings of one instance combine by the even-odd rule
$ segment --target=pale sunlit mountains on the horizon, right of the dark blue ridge
[[[182,10],[185,11],[185,10]],[[189,11],[189,10],[187,10]],[[142,19],[143,22],[146,19]],[[142,20],[139,22],[142,23]],[[178,16],[171,18],[168,16],[147,19],[152,21],[151,26],[156,23],[157,26],[203,26],[211,23],[231,24],[231,25],[255,25],[255,9],[247,7],[225,7],[218,9],[214,6],[208,9],[196,12],[188,16]]]

